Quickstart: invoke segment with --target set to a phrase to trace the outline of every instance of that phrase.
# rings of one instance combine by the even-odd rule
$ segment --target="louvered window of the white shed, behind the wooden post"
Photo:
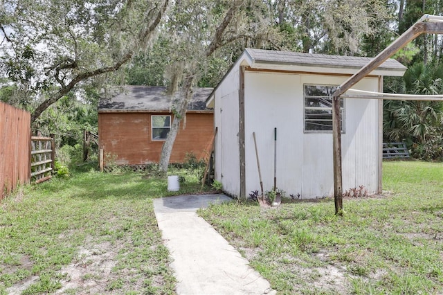
[[[332,131],[332,97],[336,86],[305,85],[305,132]],[[340,99],[341,132],[345,107]]]

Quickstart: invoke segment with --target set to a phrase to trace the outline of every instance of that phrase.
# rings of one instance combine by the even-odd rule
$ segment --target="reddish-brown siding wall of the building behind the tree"
[[[155,114],[98,114],[98,136],[105,154],[105,166],[113,158],[118,165],[159,162],[163,141],[151,141],[151,115]],[[182,163],[187,152],[193,152],[198,159],[207,157],[213,128],[213,114],[187,114],[186,128],[180,127],[170,163]]]

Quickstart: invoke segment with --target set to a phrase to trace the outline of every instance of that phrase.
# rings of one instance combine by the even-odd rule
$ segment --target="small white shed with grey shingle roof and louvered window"
[[[265,192],[273,188],[275,165],[277,188],[287,195],[332,196],[332,93],[369,61],[246,48],[207,100],[217,128],[215,179],[224,192],[246,197],[260,190],[255,132]],[[353,89],[382,92],[384,75],[404,71],[387,60]],[[342,114],[343,191],[380,192],[382,101],[345,98]]]

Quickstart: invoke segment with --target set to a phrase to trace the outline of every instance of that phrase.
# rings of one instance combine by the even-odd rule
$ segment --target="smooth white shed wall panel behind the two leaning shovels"
[[[246,193],[260,190],[253,132],[264,191],[273,188],[274,128],[277,128],[277,187],[287,195],[301,191],[302,97],[300,77],[285,73],[246,71]]]

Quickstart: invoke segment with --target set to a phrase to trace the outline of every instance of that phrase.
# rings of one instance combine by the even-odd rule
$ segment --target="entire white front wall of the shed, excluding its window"
[[[246,193],[260,189],[253,132],[257,134],[264,190],[271,190],[273,187],[273,129],[276,127],[277,187],[285,190],[288,195],[300,194],[302,198],[332,196],[332,132],[303,131],[302,87],[303,84],[338,85],[346,78],[338,75],[246,71]],[[365,78],[354,88],[377,91],[378,79]],[[219,113],[216,111],[215,114],[217,116]],[[221,116],[226,116],[224,111]],[[381,144],[378,139],[377,100],[347,99],[344,122],[343,190],[363,185],[368,193],[375,193]],[[223,128],[224,125],[221,125]],[[226,159],[223,165],[225,163]]]

